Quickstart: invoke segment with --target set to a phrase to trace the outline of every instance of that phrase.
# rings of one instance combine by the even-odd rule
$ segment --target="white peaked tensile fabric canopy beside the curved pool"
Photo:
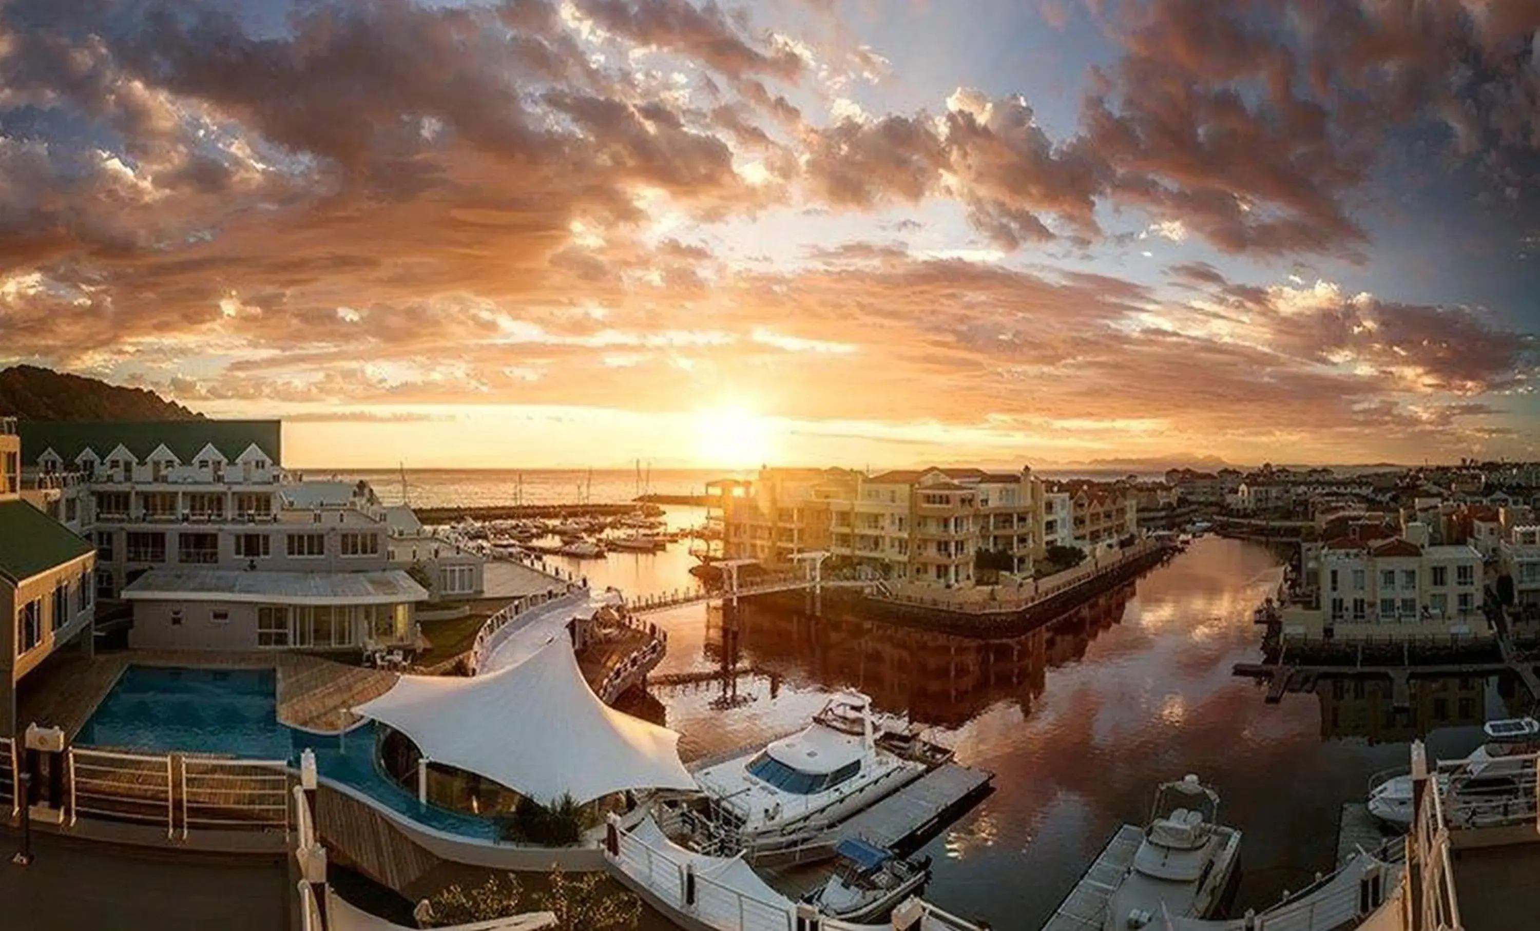
[[[625,789],[698,791],[679,762],[679,734],[601,702],[565,637],[482,676],[402,676],[353,711],[396,728],[434,763],[542,805],[568,794],[584,803]]]

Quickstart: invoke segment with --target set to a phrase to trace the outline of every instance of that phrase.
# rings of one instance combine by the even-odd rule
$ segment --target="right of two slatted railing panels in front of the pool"
[[[288,834],[285,760],[182,760],[182,837],[191,828],[259,828]]]

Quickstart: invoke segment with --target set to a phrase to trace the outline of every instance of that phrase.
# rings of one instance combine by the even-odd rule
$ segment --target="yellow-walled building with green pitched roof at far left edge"
[[[89,542],[23,500],[20,437],[0,419],[0,737],[17,732],[23,676],[69,642],[92,648],[94,563]]]

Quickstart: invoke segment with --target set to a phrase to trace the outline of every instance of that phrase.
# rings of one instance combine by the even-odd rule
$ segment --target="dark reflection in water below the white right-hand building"
[[[1511,676],[1418,677],[1409,686],[1409,706],[1395,708],[1389,679],[1318,679],[1321,737],[1358,737],[1371,745],[1408,743],[1437,728],[1480,726],[1492,717],[1528,714],[1528,694]]]

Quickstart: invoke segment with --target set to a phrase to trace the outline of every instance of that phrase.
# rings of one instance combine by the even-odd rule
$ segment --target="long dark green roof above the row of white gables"
[[[86,448],[106,459],[119,443],[139,462],[165,443],[182,465],[191,465],[205,443],[213,443],[234,462],[256,443],[274,465],[283,465],[282,423],[277,420],[143,420],[143,422],[43,422],[23,420],[17,425],[22,434],[22,462],[35,465],[37,457],[52,449],[66,463],[72,463]]]

